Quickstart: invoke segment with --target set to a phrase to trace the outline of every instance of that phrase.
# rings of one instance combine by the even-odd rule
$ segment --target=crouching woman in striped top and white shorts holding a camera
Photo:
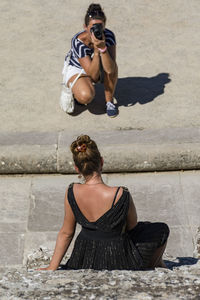
[[[109,117],[118,114],[113,95],[118,77],[116,41],[112,31],[105,28],[106,16],[99,4],[91,4],[85,15],[84,30],[75,34],[71,50],[65,58],[64,84],[72,85],[74,98],[80,104],[90,103],[95,96],[94,83],[104,83],[106,112]],[[66,99],[73,101],[73,99]]]

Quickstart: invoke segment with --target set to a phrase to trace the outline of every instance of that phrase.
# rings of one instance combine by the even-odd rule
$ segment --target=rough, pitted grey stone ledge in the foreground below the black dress
[[[199,299],[200,261],[172,270],[32,271],[0,269],[1,299]],[[35,269],[35,268],[34,268]]]

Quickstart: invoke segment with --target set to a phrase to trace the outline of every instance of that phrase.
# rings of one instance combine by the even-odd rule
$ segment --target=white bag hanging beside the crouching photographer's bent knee
[[[63,85],[61,96],[60,96],[60,107],[66,113],[73,113],[74,111],[74,96],[72,90],[69,87]]]

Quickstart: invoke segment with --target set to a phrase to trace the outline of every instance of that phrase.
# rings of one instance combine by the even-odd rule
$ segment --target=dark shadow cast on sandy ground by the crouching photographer
[[[160,73],[153,77],[125,77],[119,78],[116,86],[115,97],[118,106],[141,105],[153,101],[159,95],[164,94],[165,85],[169,83],[169,73]],[[104,88],[103,84],[95,86],[95,99],[87,106],[76,104],[72,116],[77,116],[85,110],[92,114],[105,114]]]

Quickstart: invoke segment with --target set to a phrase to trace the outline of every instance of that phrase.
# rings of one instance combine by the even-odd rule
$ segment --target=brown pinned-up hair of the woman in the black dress
[[[99,172],[101,167],[101,155],[96,143],[88,135],[80,135],[71,144],[75,165],[83,176]]]

